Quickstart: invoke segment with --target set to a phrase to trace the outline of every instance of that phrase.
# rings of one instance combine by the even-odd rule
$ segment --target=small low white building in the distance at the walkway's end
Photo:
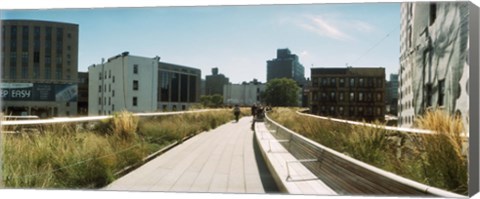
[[[226,105],[251,106],[261,102],[260,94],[265,84],[227,84],[223,86],[223,103]]]

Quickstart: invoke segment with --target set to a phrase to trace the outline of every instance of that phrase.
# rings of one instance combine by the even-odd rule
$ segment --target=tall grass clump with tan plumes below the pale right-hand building
[[[421,136],[417,148],[421,156],[426,182],[460,193],[468,193],[468,158],[463,154],[464,127],[461,118],[442,110],[428,111],[416,120],[419,128],[435,131],[435,135]]]

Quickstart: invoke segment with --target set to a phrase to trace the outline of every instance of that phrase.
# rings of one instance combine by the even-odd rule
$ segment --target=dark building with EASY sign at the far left
[[[1,43],[4,114],[77,114],[77,24],[2,20]]]

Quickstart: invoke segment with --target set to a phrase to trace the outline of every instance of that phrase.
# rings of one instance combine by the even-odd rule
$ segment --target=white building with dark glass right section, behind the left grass
[[[184,74],[187,69],[195,72],[190,75],[192,78]],[[89,115],[110,115],[122,110],[186,110],[199,98],[200,70],[162,63],[159,57],[146,58],[124,52],[90,66],[88,73]],[[193,96],[188,96],[192,93]]]

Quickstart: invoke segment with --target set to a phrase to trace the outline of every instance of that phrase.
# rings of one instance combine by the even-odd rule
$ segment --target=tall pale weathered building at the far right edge
[[[401,5],[398,125],[428,109],[461,116],[468,127],[469,2]]]

